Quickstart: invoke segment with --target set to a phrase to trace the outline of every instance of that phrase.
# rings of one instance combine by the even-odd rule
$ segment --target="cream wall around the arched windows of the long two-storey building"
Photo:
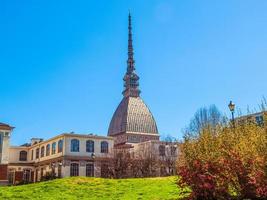
[[[79,152],[71,151],[71,140],[79,140]],[[58,141],[63,141],[62,152],[58,152]],[[86,152],[86,141],[94,141],[94,154]],[[8,168],[5,170],[5,177],[9,178],[10,184],[20,182],[40,181],[43,176],[55,173],[56,176],[70,176],[71,163],[79,164],[79,176],[86,176],[86,164],[94,164],[94,176],[101,176],[101,162],[113,156],[113,138],[94,135],[62,134],[46,141],[39,140],[30,146],[12,146],[8,151]],[[101,142],[108,143],[108,153],[101,153]],[[56,143],[55,154],[52,154],[52,144]],[[50,153],[46,156],[46,146],[50,144]],[[41,148],[44,147],[44,156],[41,156]],[[36,150],[39,148],[39,158],[36,157]],[[27,152],[27,161],[20,160],[20,152]],[[61,169],[61,170],[59,170]],[[61,171],[61,173],[60,173]],[[26,176],[25,173],[29,173]],[[60,173],[60,174],[59,174]],[[6,178],[7,180],[7,178]]]

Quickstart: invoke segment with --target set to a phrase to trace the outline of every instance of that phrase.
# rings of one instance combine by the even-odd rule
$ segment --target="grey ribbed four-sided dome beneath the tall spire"
[[[156,122],[140,97],[124,97],[109,125],[108,135],[120,133],[149,133],[158,135]]]

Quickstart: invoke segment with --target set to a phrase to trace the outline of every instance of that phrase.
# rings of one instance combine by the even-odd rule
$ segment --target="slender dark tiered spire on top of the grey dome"
[[[124,97],[139,97],[139,77],[135,73],[134,58],[133,58],[133,39],[132,39],[132,18],[129,13],[128,17],[128,59],[127,59],[127,72],[124,75]]]

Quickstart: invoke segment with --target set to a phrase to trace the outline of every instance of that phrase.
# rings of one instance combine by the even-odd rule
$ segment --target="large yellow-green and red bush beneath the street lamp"
[[[207,124],[186,132],[179,186],[190,186],[191,199],[267,198],[266,122]]]

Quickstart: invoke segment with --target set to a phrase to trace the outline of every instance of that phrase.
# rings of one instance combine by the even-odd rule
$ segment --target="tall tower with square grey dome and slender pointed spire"
[[[115,145],[159,140],[156,121],[140,97],[139,76],[135,71],[132,19],[128,17],[128,59],[123,78],[123,99],[111,119],[108,136],[115,138]]]

